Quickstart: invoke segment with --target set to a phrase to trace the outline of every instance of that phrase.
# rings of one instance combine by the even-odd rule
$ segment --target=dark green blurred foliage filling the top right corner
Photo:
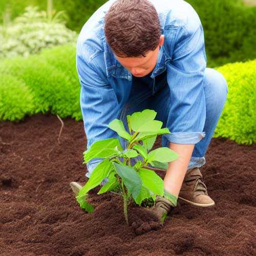
[[[256,8],[242,0],[187,0],[197,11],[205,35],[208,66],[256,58]]]

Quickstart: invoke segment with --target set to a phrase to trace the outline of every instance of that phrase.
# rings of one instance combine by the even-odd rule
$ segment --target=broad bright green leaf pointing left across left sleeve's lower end
[[[122,147],[117,138],[110,138],[94,142],[90,149],[83,152],[84,162],[88,163],[93,158],[107,158],[117,156]]]

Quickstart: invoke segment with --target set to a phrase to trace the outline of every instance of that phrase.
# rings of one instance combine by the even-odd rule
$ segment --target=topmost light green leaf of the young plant
[[[131,127],[135,132],[139,132],[140,127],[155,119],[157,113],[154,110],[143,110],[131,115]]]

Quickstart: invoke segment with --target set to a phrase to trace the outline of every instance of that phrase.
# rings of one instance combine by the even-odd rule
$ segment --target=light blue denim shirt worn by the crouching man
[[[115,58],[104,35],[104,15],[115,0],[101,6],[84,24],[77,41],[76,67],[81,84],[80,106],[87,148],[117,137],[108,124],[119,118],[132,89],[132,74]],[[206,55],[203,28],[196,11],[182,0],[151,0],[160,20],[164,44],[151,78],[166,71],[170,89],[168,141],[196,144],[204,136],[203,88]],[[157,90],[153,83],[153,93]],[[99,160],[87,164],[89,173]]]

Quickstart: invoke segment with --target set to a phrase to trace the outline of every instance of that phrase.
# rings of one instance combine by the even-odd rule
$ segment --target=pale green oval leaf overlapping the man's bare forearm
[[[159,147],[148,153],[147,162],[158,161],[161,163],[171,162],[178,159],[179,155],[168,147]]]

